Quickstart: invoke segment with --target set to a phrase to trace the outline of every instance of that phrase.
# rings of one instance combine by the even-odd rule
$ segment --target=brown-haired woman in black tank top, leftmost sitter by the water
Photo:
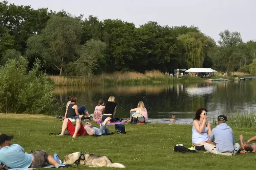
[[[70,98],[70,103],[67,105],[67,109],[66,109],[66,113],[65,113],[64,119],[66,119],[66,118],[70,118],[70,119],[85,118],[84,115],[80,115],[78,113],[78,106],[75,104],[76,101],[77,101],[76,97],[71,97]]]

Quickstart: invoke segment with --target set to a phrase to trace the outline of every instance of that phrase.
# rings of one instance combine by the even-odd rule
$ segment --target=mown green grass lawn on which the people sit
[[[21,145],[26,152],[43,149],[49,154],[64,155],[73,152],[106,155],[113,162],[121,163],[126,169],[255,169],[256,154],[235,156],[199,153],[176,153],[174,146],[191,146],[192,125],[151,123],[147,125],[126,124],[127,134],[109,136],[54,136],[61,132],[62,121],[44,115],[0,114],[0,133],[14,135],[13,144]],[[114,132],[115,126],[108,126]],[[256,129],[233,129],[236,142],[239,134],[245,140],[256,134]],[[251,163],[248,160],[252,161]],[[75,166],[73,166],[75,167]],[[88,169],[81,166],[81,169]],[[72,168],[68,168],[72,169]],[[73,168],[77,169],[77,168]],[[93,168],[92,168],[93,169]],[[116,169],[116,168],[99,168]]]

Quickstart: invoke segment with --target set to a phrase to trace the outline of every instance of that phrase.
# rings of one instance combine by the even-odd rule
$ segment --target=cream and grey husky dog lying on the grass
[[[89,167],[113,167],[125,168],[124,165],[113,163],[108,157],[92,154],[83,154],[82,152],[74,152],[64,156],[64,164],[85,165]]]

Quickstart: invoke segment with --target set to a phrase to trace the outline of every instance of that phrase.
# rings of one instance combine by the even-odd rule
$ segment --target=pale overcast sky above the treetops
[[[121,19],[136,26],[148,21],[160,25],[198,26],[217,42],[225,29],[238,31],[244,41],[256,40],[256,0],[8,0],[32,8],[64,9],[72,15]]]

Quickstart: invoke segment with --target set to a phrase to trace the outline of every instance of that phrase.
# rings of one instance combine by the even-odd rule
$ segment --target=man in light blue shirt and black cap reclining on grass
[[[55,168],[67,166],[61,164],[57,154],[53,157],[44,150],[27,153],[20,145],[11,145],[12,139],[13,136],[0,135],[0,168],[41,168],[45,163],[54,165]],[[4,164],[4,166],[1,166],[1,164]]]

